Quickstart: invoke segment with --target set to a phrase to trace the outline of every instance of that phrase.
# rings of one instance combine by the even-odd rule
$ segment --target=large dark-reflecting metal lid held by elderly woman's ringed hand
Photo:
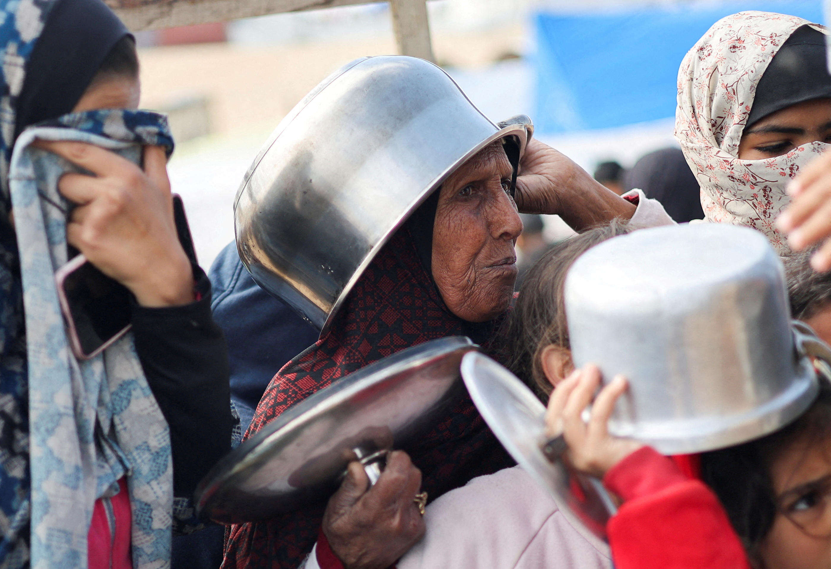
[[[211,469],[195,493],[198,512],[257,522],[326,500],[351,460],[406,450],[464,395],[460,361],[476,347],[465,336],[425,342],[317,391]]]

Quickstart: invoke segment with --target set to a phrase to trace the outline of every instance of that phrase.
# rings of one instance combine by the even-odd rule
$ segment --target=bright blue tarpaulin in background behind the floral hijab
[[[717,20],[743,10],[824,22],[819,0],[732,0],[593,14],[538,13],[538,132],[632,125],[675,115],[681,59]]]

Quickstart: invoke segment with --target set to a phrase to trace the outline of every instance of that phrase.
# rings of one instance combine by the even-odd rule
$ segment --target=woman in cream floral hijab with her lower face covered
[[[831,142],[824,27],[772,12],[715,22],[678,72],[676,138],[706,220],[756,228],[780,254],[786,187]]]

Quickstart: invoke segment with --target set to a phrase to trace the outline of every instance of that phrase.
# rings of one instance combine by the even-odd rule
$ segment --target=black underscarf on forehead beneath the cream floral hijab
[[[799,27],[779,48],[756,86],[747,125],[790,105],[831,97],[825,34]]]

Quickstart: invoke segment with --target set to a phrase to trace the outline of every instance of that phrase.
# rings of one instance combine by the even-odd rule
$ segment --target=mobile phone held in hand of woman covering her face
[[[173,195],[173,215],[179,243],[195,264],[193,238],[177,194]],[[70,346],[78,359],[97,356],[130,330],[132,293],[86,257],[77,254],[71,258],[55,272],[55,280]]]

